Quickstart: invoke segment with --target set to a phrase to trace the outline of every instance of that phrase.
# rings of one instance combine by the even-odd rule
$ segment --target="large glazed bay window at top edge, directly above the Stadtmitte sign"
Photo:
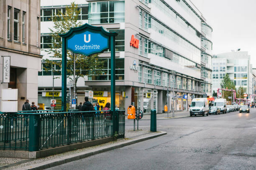
[[[124,1],[89,2],[89,23],[124,23],[124,11]]]

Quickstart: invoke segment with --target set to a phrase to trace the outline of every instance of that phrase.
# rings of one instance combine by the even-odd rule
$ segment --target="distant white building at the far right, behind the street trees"
[[[250,55],[246,51],[226,52],[214,55],[212,58],[212,90],[217,92],[221,88],[220,83],[228,73],[230,79],[236,85],[236,89],[243,87],[250,99],[255,94],[253,82],[253,69],[250,63]]]

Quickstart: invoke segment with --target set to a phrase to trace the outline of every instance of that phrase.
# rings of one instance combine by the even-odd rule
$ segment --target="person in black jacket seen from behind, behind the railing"
[[[87,130],[87,137],[91,136],[91,119],[93,118],[93,112],[84,112],[84,111],[93,111],[94,108],[92,103],[88,101],[88,97],[84,97],[84,104],[82,106],[83,116],[85,119],[85,125]]]

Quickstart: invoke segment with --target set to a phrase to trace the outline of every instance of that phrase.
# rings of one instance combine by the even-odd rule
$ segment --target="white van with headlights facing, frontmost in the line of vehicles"
[[[195,98],[192,100],[191,105],[189,105],[190,116],[192,115],[202,115],[209,114],[209,104],[207,98]]]

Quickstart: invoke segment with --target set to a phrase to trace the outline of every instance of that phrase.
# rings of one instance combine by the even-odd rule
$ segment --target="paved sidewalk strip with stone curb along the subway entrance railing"
[[[45,158],[36,160],[19,159],[19,158],[0,158],[0,170],[42,170],[53,166],[68,163],[74,160],[79,160],[92,156],[98,153],[103,153],[109,150],[122,148],[127,145],[142,142],[152,138],[166,135],[166,132],[150,132],[149,130],[125,130],[125,138],[118,139],[102,145],[92,146],[79,150],[69,151],[57,155],[51,155]]]

